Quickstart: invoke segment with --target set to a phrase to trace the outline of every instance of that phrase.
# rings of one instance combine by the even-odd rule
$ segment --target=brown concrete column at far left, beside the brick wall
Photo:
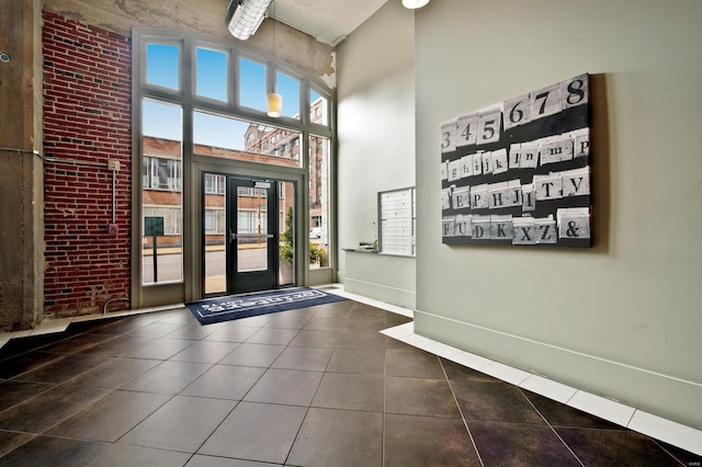
[[[41,0],[0,0],[0,331],[13,331],[43,318]]]

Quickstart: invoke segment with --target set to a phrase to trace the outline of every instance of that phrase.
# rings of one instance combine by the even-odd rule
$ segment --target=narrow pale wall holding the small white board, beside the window
[[[377,192],[415,185],[414,34],[412,12],[390,1],[337,48],[341,249],[373,241]],[[341,282],[352,277],[356,293],[414,308],[414,259],[362,257],[349,271],[348,254],[365,253],[340,251]]]

